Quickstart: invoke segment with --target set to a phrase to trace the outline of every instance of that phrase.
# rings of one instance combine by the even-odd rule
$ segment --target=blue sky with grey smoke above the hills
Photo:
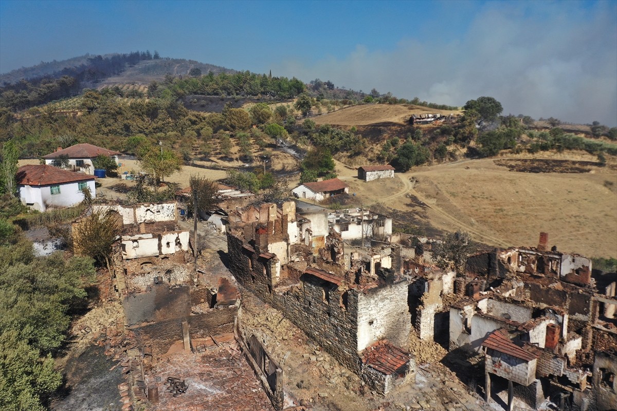
[[[157,50],[236,70],[617,125],[617,1],[7,1],[0,72]]]

